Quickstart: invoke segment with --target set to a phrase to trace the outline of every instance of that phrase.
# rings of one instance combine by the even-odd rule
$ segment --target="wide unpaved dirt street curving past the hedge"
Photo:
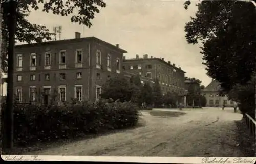
[[[179,117],[157,117],[142,112],[144,126],[29,152],[34,155],[82,156],[239,156],[232,109],[183,110]],[[28,153],[27,153],[28,154]]]

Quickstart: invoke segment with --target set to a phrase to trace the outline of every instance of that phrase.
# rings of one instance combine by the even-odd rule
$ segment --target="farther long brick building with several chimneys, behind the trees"
[[[148,58],[147,54],[144,54],[143,58],[138,55],[133,59],[123,57],[123,71],[127,76],[139,74],[142,81],[149,81],[150,84],[154,84],[154,80],[158,78],[163,94],[167,92],[176,92],[180,96],[186,94],[184,84],[186,72],[176,67],[175,64],[165,62],[163,58],[152,56]]]

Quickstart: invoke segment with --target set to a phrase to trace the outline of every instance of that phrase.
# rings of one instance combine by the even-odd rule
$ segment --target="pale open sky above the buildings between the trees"
[[[207,86],[211,78],[206,75],[202,64],[202,54],[198,44],[188,44],[184,26],[197,11],[193,1],[184,9],[185,0],[105,0],[105,8],[100,8],[87,28],[72,23],[71,16],[53,15],[39,10],[32,11],[29,22],[45,25],[51,32],[53,26],[62,26],[62,39],[75,38],[75,32],[81,37],[94,36],[111,44],[119,44],[126,50],[126,58],[135,58],[143,54],[175,63],[187,72],[185,76],[194,77]]]

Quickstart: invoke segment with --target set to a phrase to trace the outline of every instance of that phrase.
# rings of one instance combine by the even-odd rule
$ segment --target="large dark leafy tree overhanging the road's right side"
[[[255,69],[256,10],[240,1],[202,1],[195,18],[186,23],[187,42],[203,43],[207,75],[223,89],[246,84]]]

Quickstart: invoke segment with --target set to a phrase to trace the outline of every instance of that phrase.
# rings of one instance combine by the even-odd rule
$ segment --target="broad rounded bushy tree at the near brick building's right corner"
[[[130,101],[131,95],[132,91],[129,81],[122,76],[108,79],[102,87],[101,97],[105,99],[119,99],[121,102],[124,102]]]

